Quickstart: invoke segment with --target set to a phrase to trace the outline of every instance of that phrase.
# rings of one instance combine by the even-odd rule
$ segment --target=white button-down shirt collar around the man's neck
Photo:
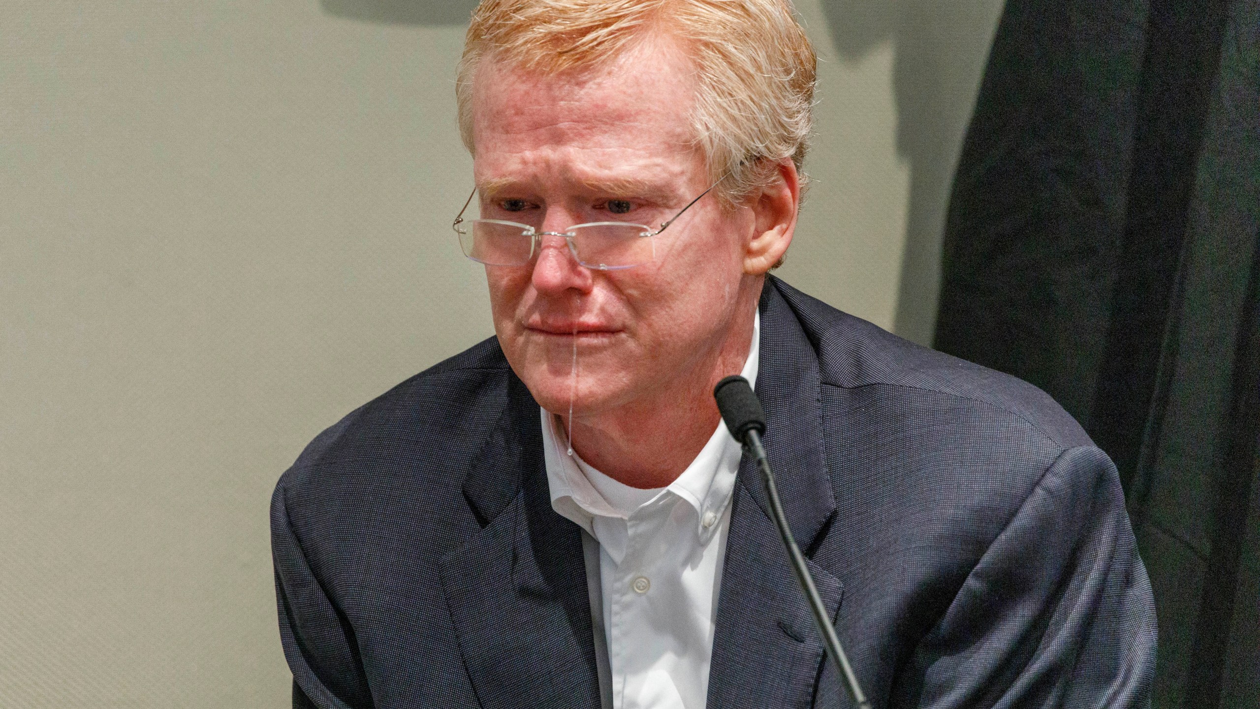
[[[761,313],[752,319],[752,342],[748,357],[743,362],[741,376],[757,381],[761,349]],[[551,489],[552,508],[571,520],[587,534],[596,536],[593,517],[624,517],[624,513],[591,484],[583,468],[593,471],[577,454],[568,454],[568,439],[564,430],[557,425],[556,416],[539,407],[542,415],[543,457],[547,467],[547,483]],[[672,482],[665,491],[684,500],[697,516],[697,534],[702,544],[707,544],[717,530],[731,493],[735,489],[736,474],[742,452],[738,442],[731,437],[726,425],[719,423],[708,443],[694,460]],[[602,474],[593,471],[593,474]],[[706,525],[706,522],[708,522]]]

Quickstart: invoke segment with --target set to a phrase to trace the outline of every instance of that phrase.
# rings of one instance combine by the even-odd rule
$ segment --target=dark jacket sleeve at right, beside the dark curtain
[[[1148,706],[1150,582],[1115,466],[1063,452],[898,672],[891,706]]]

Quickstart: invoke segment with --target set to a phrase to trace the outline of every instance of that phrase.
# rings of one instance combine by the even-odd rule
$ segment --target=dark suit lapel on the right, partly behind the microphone
[[[835,512],[823,442],[818,360],[774,280],[761,299],[756,391],[766,410],[766,454],[788,522],[806,553]],[[809,706],[823,641],[767,512],[752,460],[740,463],[709,670],[709,706]],[[833,617],[843,587],[810,561]]]

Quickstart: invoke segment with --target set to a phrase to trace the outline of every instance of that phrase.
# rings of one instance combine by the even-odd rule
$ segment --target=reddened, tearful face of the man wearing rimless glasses
[[[658,228],[709,187],[689,125],[693,73],[669,38],[580,77],[486,61],[472,103],[481,217],[551,232],[600,221]],[[529,265],[486,266],[508,361],[544,409],[567,413],[572,396],[578,416],[650,407],[697,377],[707,386],[731,349],[737,296],[760,286],[743,274],[752,227],[748,209],[709,194],[655,237],[650,264],[587,269],[547,236]]]

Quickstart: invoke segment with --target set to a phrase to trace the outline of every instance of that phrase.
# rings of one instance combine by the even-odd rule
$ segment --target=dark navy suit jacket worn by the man
[[[873,705],[1145,705],[1150,587],[1076,421],[777,279],[760,308],[766,450]],[[708,706],[847,706],[747,458],[738,479]],[[271,525],[295,706],[600,705],[580,527],[494,339],[320,434]]]

